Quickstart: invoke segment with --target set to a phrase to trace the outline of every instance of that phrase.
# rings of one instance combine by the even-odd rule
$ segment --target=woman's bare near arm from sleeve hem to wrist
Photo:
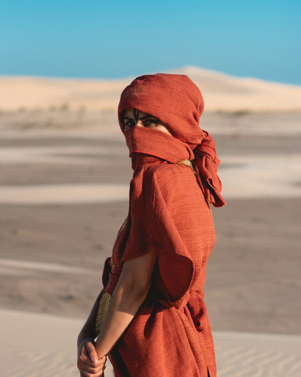
[[[124,262],[122,274],[96,340],[98,357],[111,351],[146,299],[156,258],[157,251],[152,250]]]

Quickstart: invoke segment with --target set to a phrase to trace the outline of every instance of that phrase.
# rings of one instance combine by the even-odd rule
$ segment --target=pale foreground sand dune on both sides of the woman
[[[2,309],[0,319],[3,377],[79,376],[76,338],[84,321]],[[300,376],[300,336],[224,331],[213,336],[218,377]],[[109,360],[106,365],[105,377],[112,377]]]

